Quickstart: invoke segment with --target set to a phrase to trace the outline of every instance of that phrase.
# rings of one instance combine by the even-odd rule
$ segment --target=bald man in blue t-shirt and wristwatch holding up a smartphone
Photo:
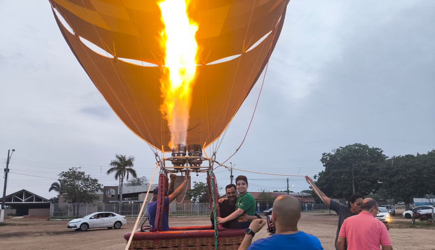
[[[266,224],[262,219],[251,222],[245,230],[245,238],[239,250],[254,249],[306,249],[322,250],[319,239],[298,230],[298,221],[301,218],[301,205],[298,199],[290,195],[281,195],[273,202],[272,221],[276,233],[270,237],[259,239],[251,244],[255,233]]]

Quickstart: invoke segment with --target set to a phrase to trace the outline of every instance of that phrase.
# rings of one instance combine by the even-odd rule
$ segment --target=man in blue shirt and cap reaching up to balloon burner
[[[175,200],[177,197],[179,197],[183,191],[186,189],[187,182],[189,180],[189,176],[186,174],[184,176],[184,181],[181,183],[179,187],[177,187],[172,194],[165,197],[165,204],[164,206],[168,206],[169,203],[171,203],[173,200]],[[159,194],[159,188],[154,188],[154,193],[151,199],[150,204],[148,204],[147,208],[147,216],[148,221],[151,225],[151,229],[155,228],[155,214],[157,211],[157,194]],[[168,223],[168,215],[166,214],[166,211],[163,210],[163,218],[162,218],[162,230],[163,231],[169,231],[169,223]]]

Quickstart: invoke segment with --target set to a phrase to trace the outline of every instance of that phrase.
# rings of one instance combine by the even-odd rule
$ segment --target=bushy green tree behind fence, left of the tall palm
[[[81,203],[98,199],[98,190],[102,190],[102,185],[97,179],[85,175],[84,171],[79,171],[80,167],[72,167],[68,171],[59,174],[62,180],[61,195],[65,201]]]

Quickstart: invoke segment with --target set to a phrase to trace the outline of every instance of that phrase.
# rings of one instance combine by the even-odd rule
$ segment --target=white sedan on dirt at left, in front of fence
[[[74,219],[68,222],[68,228],[76,231],[86,231],[89,228],[97,227],[120,229],[122,225],[127,225],[127,219],[125,216],[111,212],[93,213],[83,218]]]

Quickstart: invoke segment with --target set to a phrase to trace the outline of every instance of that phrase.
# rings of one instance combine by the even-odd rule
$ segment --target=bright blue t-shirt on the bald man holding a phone
[[[264,249],[305,249],[323,250],[320,240],[313,235],[299,231],[296,234],[280,235],[274,234],[270,237],[259,239],[253,242],[248,250]]]

